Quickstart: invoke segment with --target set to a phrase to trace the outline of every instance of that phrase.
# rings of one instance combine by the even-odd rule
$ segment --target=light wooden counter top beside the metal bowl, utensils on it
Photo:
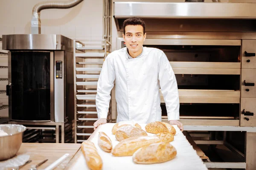
[[[28,170],[31,165],[36,165],[45,159],[47,162],[38,167],[38,170],[43,170],[54,161],[59,159],[65,153],[69,153],[67,159],[65,159],[61,164],[58,165],[54,170],[63,170],[69,161],[73,158],[76,152],[81,147],[81,144],[68,144],[68,143],[22,143],[20,150],[17,154],[27,154],[29,159],[32,160],[26,166],[20,168],[20,170]]]

